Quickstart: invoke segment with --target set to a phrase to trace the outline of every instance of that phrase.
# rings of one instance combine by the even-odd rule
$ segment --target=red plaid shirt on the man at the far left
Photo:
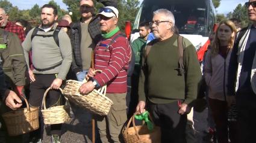
[[[10,21],[8,21],[4,30],[8,31],[8,32],[12,32],[14,34],[17,34],[19,36],[19,39],[20,39],[21,42],[23,42],[24,39],[26,38],[23,28],[19,25],[15,25],[14,23],[12,23]]]

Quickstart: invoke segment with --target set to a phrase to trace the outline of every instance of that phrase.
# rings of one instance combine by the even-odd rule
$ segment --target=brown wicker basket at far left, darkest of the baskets
[[[39,107],[30,107],[25,99],[27,108],[21,108],[2,115],[10,136],[22,135],[39,129]]]

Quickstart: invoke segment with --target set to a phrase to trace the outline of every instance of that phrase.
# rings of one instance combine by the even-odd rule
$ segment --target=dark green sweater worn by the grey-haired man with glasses
[[[178,35],[174,34],[152,45],[146,59],[148,66],[140,72],[139,101],[146,101],[147,96],[155,104],[168,104],[177,99],[184,99],[186,104],[190,104],[196,99],[201,79],[196,50],[189,40],[183,38],[186,73],[179,76],[176,70],[179,60],[177,39]],[[145,62],[144,58],[142,62]]]

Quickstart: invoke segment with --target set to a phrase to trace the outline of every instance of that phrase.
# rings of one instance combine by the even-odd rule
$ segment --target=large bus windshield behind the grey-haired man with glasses
[[[205,0],[145,0],[139,22],[151,22],[153,12],[160,8],[172,11],[180,34],[206,35],[207,4]]]

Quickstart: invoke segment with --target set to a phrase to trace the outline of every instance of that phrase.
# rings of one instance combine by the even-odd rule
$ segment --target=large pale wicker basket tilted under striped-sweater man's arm
[[[66,87],[63,89],[64,96],[66,96],[69,101],[74,102],[82,108],[89,109],[89,111],[95,114],[107,115],[113,105],[113,102],[105,96],[107,86],[103,86],[98,90],[94,89],[88,95],[81,95],[78,89],[86,82],[86,79],[83,82],[67,80]]]

